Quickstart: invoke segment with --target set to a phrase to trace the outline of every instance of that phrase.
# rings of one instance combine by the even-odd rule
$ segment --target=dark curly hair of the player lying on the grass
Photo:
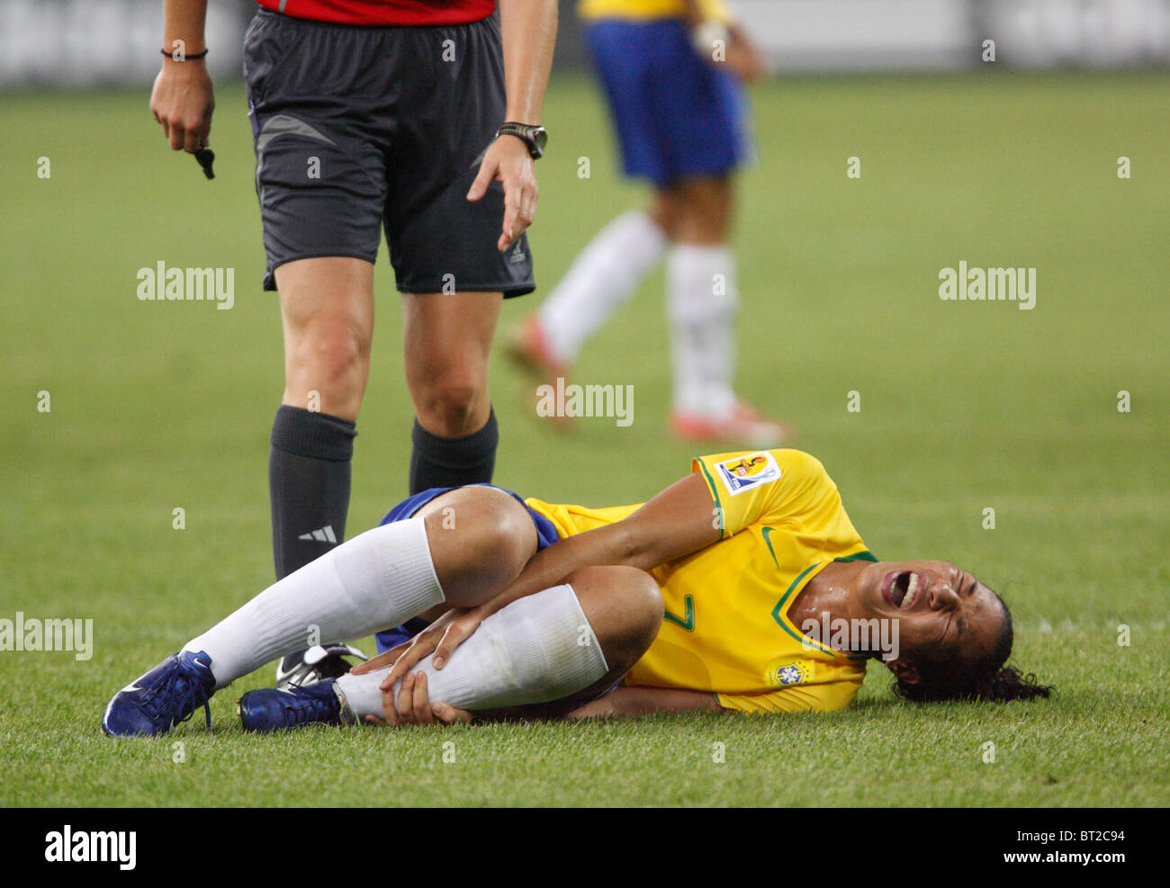
[[[1055,690],[1051,684],[1040,684],[1032,673],[1023,673],[1014,666],[1006,666],[1012,653],[1012,612],[996,593],[1004,608],[1004,625],[994,646],[982,658],[948,658],[945,660],[915,661],[918,681],[899,679],[894,693],[914,703],[936,703],[945,700],[979,700],[1007,702],[1011,700],[1034,700],[1048,697]]]

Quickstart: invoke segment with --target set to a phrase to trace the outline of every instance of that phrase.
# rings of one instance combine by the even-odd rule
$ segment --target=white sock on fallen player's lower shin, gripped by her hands
[[[482,710],[560,700],[608,670],[577,593],[565,584],[494,613],[455,648],[442,669],[435,669],[427,656],[411,672],[426,673],[432,703]],[[390,667],[337,680],[359,722],[370,714],[381,716],[378,686],[388,672]]]

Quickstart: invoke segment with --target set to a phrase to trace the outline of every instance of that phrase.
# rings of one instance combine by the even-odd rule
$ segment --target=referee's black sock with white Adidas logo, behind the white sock
[[[345,539],[355,435],[345,419],[288,405],[276,411],[268,493],[277,579]]]

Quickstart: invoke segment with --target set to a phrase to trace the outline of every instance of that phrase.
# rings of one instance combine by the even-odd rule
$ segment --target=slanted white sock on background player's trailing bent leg
[[[537,317],[549,347],[564,363],[638,289],[654,268],[666,235],[640,209],[624,213],[590,241],[541,305]]]

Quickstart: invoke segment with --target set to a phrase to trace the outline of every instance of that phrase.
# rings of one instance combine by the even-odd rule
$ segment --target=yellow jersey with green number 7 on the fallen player
[[[625,677],[633,687],[715,695],[725,709],[826,711],[853,702],[866,674],[805,635],[787,615],[805,585],[834,560],[876,560],[854,530],[825,467],[800,450],[696,457],[720,539],[651,573],[666,617]],[[590,509],[525,500],[562,538],[621,521],[641,504]]]

